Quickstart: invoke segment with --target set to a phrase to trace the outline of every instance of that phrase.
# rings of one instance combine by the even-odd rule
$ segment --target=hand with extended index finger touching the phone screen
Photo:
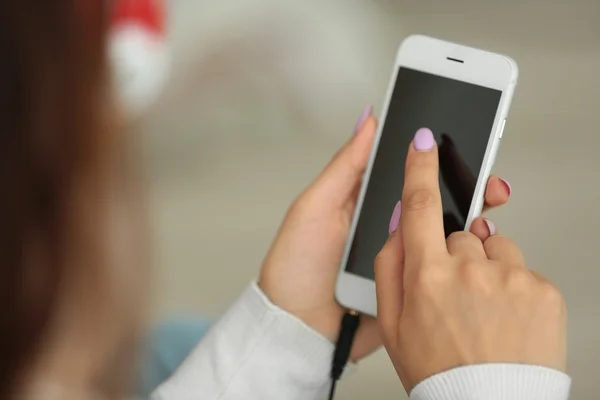
[[[400,223],[375,274],[384,344],[407,392],[473,364],[564,371],[566,307],[558,289],[528,270],[506,237],[457,232],[445,239],[438,151],[427,132],[415,137],[406,163]]]

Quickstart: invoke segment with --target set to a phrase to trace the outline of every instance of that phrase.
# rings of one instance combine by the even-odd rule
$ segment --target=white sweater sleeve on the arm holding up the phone
[[[317,399],[333,348],[252,284],[152,399]]]

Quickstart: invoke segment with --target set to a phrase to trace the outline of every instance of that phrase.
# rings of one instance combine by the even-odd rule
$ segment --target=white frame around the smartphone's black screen
[[[465,230],[472,221],[481,214],[484,193],[492,166],[502,138],[510,103],[517,85],[519,70],[517,63],[510,57],[484,50],[446,42],[423,35],[406,38],[398,48],[394,70],[387,89],[384,106],[381,110],[379,129],[375,137],[367,170],[360,189],[352,225],[340,265],[336,283],[336,298],[340,304],[364,314],[377,315],[377,298],[375,281],[345,271],[356,225],[362,209],[365,193],[369,185],[371,170],[379,146],[384,121],[392,98],[400,67],[407,67],[446,78],[451,78],[479,86],[502,91],[494,124],[490,132],[490,140],[485,151],[482,167],[475,186]],[[391,212],[391,211],[390,211]]]

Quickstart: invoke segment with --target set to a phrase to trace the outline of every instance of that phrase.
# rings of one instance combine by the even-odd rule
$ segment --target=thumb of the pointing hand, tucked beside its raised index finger
[[[404,299],[404,244],[400,216],[402,203],[394,208],[390,236],[375,258],[377,320],[385,340],[396,341]]]

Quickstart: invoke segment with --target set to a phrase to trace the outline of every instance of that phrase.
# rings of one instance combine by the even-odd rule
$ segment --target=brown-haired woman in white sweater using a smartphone
[[[144,229],[105,90],[103,17],[102,1],[0,4],[0,398],[117,399],[131,382]],[[290,208],[258,283],[155,399],[322,394],[343,313],[337,265],[375,124],[361,118]],[[379,347],[381,330],[413,398],[566,398],[560,294],[483,219],[445,241],[430,132],[407,163],[404,203],[376,261],[380,326],[363,321],[351,359]],[[508,194],[490,179],[488,205]]]

